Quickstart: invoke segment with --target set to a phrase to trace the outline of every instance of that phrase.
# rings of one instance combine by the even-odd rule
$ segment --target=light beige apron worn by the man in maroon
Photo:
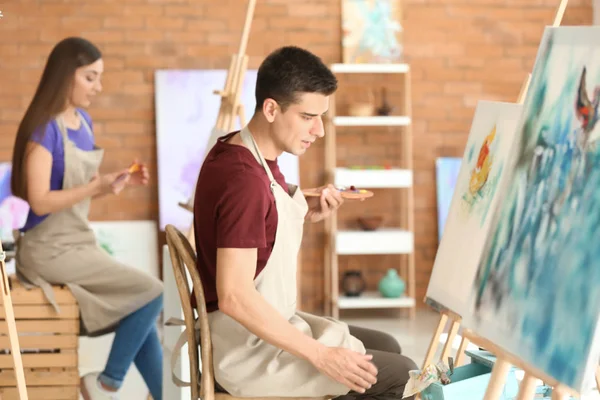
[[[278,215],[273,251],[254,281],[258,292],[303,333],[327,346],[345,347],[364,354],[362,342],[350,335],[347,324],[296,310],[297,259],[308,205],[301,190],[295,188],[290,197],[273,178],[249,130],[244,128],[240,134],[269,176]],[[215,380],[229,394],[305,397],[338,396],[349,392],[346,386],[322,375],[309,362],[263,341],[221,311],[209,313],[208,320]],[[179,353],[177,347],[175,353]],[[174,381],[180,384],[175,376]]]

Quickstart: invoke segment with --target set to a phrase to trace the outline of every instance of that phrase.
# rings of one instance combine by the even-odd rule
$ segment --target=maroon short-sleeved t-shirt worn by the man
[[[194,196],[197,268],[208,312],[218,309],[217,248],[257,248],[256,277],[275,243],[277,209],[269,177],[249,149],[225,142],[236,133],[219,139],[207,154]],[[277,160],[267,164],[287,191]]]

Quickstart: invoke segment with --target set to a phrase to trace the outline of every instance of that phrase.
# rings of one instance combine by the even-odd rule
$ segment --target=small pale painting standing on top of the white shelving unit
[[[400,0],[341,0],[344,63],[394,63],[403,56]]]

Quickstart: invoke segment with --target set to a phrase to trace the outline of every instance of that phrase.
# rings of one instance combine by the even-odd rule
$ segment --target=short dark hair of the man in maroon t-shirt
[[[301,93],[329,96],[336,90],[335,75],[319,57],[296,46],[285,46],[269,54],[258,68],[256,110],[269,98],[285,111]]]

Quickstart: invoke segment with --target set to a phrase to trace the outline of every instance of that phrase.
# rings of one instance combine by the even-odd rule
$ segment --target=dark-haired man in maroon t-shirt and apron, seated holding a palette
[[[304,154],[324,136],[337,80],[297,47],[258,70],[247,126],[207,154],[195,192],[198,270],[206,296],[217,389],[249,396],[402,398],[415,363],[388,334],[296,310],[305,221],[343,202],[332,185],[315,204],[288,185],[277,157]]]

